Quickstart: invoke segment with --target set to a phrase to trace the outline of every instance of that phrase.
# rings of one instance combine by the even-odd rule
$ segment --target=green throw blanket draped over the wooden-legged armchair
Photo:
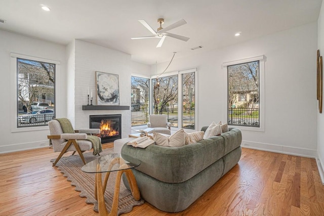
[[[60,122],[64,134],[74,134],[74,129],[71,122],[67,118],[55,118]],[[97,155],[102,152],[101,140],[97,136],[88,135],[86,139],[92,143],[93,155]]]

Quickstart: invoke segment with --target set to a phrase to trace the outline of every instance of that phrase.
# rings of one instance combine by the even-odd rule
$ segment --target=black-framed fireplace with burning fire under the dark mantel
[[[121,114],[90,115],[90,128],[99,128],[101,143],[110,143],[121,138]]]

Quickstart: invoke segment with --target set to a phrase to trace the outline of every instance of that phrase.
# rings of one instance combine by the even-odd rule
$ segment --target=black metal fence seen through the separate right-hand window
[[[260,127],[259,122],[259,108],[228,109],[229,125]]]

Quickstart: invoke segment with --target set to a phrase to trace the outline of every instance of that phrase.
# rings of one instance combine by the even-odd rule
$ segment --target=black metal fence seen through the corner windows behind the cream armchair
[[[157,114],[166,114],[168,121],[171,122],[174,127],[178,127],[178,108],[158,110]],[[148,109],[141,109],[140,111],[132,110],[132,126],[146,124],[148,122],[148,115]],[[185,108],[182,110],[183,128],[194,129],[194,120],[194,108]]]

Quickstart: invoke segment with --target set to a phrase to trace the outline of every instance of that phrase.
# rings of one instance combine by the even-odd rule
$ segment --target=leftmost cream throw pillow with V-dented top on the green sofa
[[[153,140],[155,141],[155,144],[158,146],[181,147],[185,145],[183,128],[179,129],[179,131],[177,131],[175,134],[171,135],[170,137],[166,137],[164,135],[154,132]]]

